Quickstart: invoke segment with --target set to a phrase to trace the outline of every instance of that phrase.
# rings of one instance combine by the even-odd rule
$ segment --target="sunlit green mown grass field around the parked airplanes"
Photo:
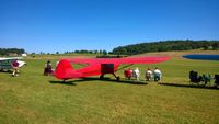
[[[168,53],[172,59],[158,65],[131,66],[140,68],[141,79],[146,68],[159,67],[160,84],[97,77],[61,83],[43,76],[46,57],[25,59],[19,77],[0,72],[0,124],[218,124],[219,90],[209,88],[214,81],[207,88],[191,86],[188,71],[212,76],[219,63],[181,54]]]

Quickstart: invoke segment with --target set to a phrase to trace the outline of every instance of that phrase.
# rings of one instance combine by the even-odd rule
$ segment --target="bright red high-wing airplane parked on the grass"
[[[91,76],[100,76],[102,79],[105,74],[112,74],[116,77],[115,72],[122,64],[158,64],[169,59],[170,57],[61,59],[53,74],[57,79],[61,79],[64,81],[68,79],[85,78]],[[73,69],[71,64],[84,64],[87,66],[81,69]],[[116,77],[116,79],[119,80],[119,77]]]

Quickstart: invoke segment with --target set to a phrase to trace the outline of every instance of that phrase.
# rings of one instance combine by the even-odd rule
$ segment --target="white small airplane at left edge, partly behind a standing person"
[[[0,58],[0,70],[7,70],[7,71],[11,70],[12,69],[11,63],[16,59],[19,63],[19,68],[26,65],[25,61],[19,60],[19,59],[22,59],[22,57]]]

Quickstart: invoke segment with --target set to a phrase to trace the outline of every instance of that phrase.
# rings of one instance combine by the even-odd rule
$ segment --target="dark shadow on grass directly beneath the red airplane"
[[[114,80],[111,78],[82,78],[78,80],[67,80],[67,81],[49,81],[50,83],[61,83],[61,84],[69,84],[69,86],[76,86],[74,82],[85,82],[85,81],[95,81],[95,80],[101,80],[101,81],[108,81],[108,82],[115,82],[115,83],[126,83],[126,84],[148,84],[147,82],[142,81],[134,81],[134,80]]]

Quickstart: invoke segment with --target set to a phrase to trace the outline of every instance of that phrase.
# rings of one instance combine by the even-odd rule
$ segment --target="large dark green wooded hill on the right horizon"
[[[191,50],[203,48],[205,50],[219,49],[219,41],[161,41],[151,43],[140,43],[126,46],[118,46],[113,49],[117,55],[137,55],[150,52],[170,52],[170,50]]]

